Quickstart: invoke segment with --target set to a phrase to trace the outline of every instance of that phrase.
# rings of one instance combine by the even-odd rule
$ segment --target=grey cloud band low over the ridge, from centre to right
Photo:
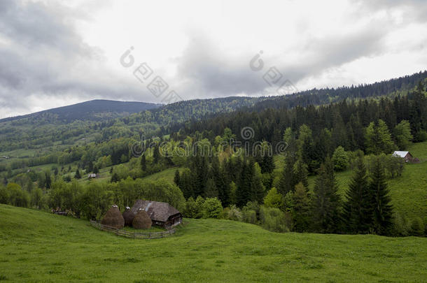
[[[265,63],[268,66],[260,73],[252,71],[249,66],[257,52],[241,50],[240,56],[230,57],[202,33],[195,33],[190,36],[188,47],[179,61],[179,76],[196,85],[198,92],[209,96],[265,94],[269,85],[261,77],[269,68],[275,67],[283,78],[295,85],[307,76],[317,75],[328,68],[380,54],[384,49],[381,41],[386,32],[386,29],[377,27],[342,36],[308,38],[298,46],[302,58],[297,63],[286,61],[286,52],[281,56],[269,56],[265,51],[260,58],[269,64]]]

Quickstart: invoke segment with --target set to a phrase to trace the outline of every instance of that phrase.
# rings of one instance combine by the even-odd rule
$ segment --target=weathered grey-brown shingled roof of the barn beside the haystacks
[[[142,208],[147,212],[147,215],[154,221],[167,222],[167,219],[172,216],[179,214],[176,208],[169,203],[162,203],[160,201],[143,201],[137,200],[130,210],[134,215],[137,215],[139,208]]]

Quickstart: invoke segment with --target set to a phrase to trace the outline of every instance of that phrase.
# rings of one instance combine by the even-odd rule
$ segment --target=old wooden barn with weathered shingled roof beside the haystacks
[[[132,206],[132,213],[137,215],[139,209],[145,210],[148,217],[151,218],[153,225],[170,228],[183,222],[183,216],[176,208],[169,203],[160,201],[143,201],[139,199]]]

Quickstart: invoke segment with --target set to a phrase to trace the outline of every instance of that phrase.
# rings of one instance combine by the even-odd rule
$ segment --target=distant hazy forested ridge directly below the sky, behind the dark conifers
[[[45,147],[49,147],[49,150],[58,150],[58,148],[52,147],[59,147],[59,150],[63,150],[67,146],[79,144],[81,138],[85,138],[87,142],[100,143],[120,137],[135,138],[143,133],[147,137],[164,136],[178,131],[186,122],[210,119],[235,110],[259,112],[267,108],[319,106],[344,99],[357,101],[370,97],[393,97],[398,94],[405,96],[410,89],[416,86],[417,82],[426,78],[427,72],[423,71],[370,85],[311,89],[286,96],[195,99],[179,101],[159,108],[150,104],[148,106],[132,104],[132,108],[127,106],[129,113],[141,107],[153,109],[115,119],[115,115],[124,110],[122,105],[113,108],[111,103],[102,103],[102,106],[97,107],[80,103],[85,108],[76,104],[76,106],[35,113],[28,117],[1,120],[0,151],[41,150]],[[72,114],[65,114],[68,108],[72,110]],[[109,114],[105,112],[107,109],[110,109]]]

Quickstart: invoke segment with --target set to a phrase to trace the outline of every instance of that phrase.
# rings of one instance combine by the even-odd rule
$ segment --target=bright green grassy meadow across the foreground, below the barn
[[[135,240],[83,219],[0,205],[6,282],[426,282],[427,239],[272,233],[186,219],[168,238]]]

